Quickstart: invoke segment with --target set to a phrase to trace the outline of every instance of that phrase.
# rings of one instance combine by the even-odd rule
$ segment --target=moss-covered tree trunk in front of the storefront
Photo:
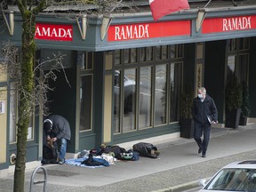
[[[22,47],[21,47],[21,89],[19,103],[19,120],[17,133],[17,158],[14,171],[14,192],[24,192],[25,168],[26,168],[26,144],[31,105],[28,95],[34,90],[34,60],[36,42],[34,39],[36,19],[32,12],[24,12]]]

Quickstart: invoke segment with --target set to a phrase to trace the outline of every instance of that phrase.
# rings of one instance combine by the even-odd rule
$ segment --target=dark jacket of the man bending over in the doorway
[[[52,121],[52,132],[56,134],[56,138],[58,140],[60,140],[61,138],[70,140],[70,125],[68,124],[68,120],[66,118],[59,115],[52,115],[48,116],[47,119],[50,119]]]

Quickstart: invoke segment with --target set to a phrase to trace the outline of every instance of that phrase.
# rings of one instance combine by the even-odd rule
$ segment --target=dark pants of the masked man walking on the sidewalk
[[[207,122],[204,124],[194,122],[194,139],[196,140],[198,147],[202,149],[203,155],[206,154],[206,150],[210,140],[210,132],[211,132],[211,124]],[[204,140],[202,141],[201,137],[203,133],[204,133]]]

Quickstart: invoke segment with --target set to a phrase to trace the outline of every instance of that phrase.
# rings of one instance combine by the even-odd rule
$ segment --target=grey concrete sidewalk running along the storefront
[[[255,135],[256,124],[238,129],[212,128],[206,158],[197,154],[193,139],[178,138],[162,143],[152,141],[161,153],[157,159],[140,156],[139,161],[118,161],[95,169],[69,164],[44,165],[48,173],[47,191],[184,191],[198,187],[198,180],[211,177],[228,163],[256,159]],[[26,172],[26,191],[31,174],[32,170]],[[36,180],[43,180],[42,172],[36,174]],[[0,180],[0,191],[11,192],[12,185],[13,175],[10,175]],[[33,191],[43,191],[42,185],[36,185]]]

